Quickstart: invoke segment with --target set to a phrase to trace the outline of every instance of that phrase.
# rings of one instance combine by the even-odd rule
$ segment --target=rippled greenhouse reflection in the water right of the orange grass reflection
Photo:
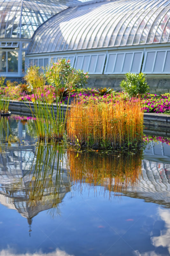
[[[127,196],[143,198],[170,208],[170,146],[162,142],[150,142],[144,151],[142,175],[134,191],[127,189]]]

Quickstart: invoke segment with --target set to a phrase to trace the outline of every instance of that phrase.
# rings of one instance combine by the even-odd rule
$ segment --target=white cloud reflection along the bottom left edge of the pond
[[[68,254],[65,251],[61,251],[60,249],[56,249],[54,252],[42,253],[42,252],[34,252],[34,253],[15,253],[12,252],[12,249],[5,249],[0,251],[0,256],[74,256],[72,254]]]

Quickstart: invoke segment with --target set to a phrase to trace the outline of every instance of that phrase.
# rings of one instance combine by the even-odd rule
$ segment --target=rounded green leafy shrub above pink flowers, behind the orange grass
[[[143,73],[126,73],[125,80],[120,82],[120,87],[129,97],[136,97],[142,93],[149,92],[149,86]]]

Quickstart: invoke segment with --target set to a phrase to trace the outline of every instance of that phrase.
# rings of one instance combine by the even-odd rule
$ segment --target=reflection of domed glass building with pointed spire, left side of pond
[[[4,119],[0,121],[1,128]],[[6,121],[8,124],[8,119]],[[64,157],[57,155],[57,144],[56,147],[43,144],[37,149],[28,125],[11,116],[7,125],[11,126],[10,132],[0,129],[0,204],[17,210],[31,225],[32,218],[39,212],[58,211],[58,205],[70,191],[70,181]],[[46,157],[50,148],[55,148],[54,153],[50,151],[51,158]],[[57,165],[58,157],[63,165]]]

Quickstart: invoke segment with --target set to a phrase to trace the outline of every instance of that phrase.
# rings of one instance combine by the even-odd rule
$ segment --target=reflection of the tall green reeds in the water
[[[43,204],[48,200],[48,204],[50,203],[52,208],[58,207],[61,202],[60,189],[63,184],[64,159],[65,155],[61,144],[39,143],[30,170],[30,205]]]

